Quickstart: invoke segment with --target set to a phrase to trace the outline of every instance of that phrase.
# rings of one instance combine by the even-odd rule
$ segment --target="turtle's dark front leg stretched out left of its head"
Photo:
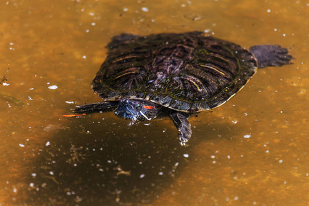
[[[118,106],[118,101],[111,102],[98,102],[93,104],[84,104],[76,106],[77,108],[72,109],[73,113],[78,114],[91,114],[99,112],[113,111]]]

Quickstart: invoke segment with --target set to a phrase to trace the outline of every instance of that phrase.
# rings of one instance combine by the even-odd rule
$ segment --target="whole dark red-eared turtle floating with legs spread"
[[[188,118],[231,99],[265,67],[291,64],[280,45],[244,49],[204,32],[120,34],[106,46],[108,56],[91,83],[102,102],[73,113],[113,111],[132,122],[168,116],[186,146],[192,135]]]

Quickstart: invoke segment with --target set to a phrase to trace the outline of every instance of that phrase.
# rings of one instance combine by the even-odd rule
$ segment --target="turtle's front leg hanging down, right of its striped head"
[[[174,111],[170,114],[170,117],[179,131],[179,141],[181,146],[185,146],[185,143],[190,139],[192,134],[191,124],[187,120],[187,118],[190,117],[190,114]]]

